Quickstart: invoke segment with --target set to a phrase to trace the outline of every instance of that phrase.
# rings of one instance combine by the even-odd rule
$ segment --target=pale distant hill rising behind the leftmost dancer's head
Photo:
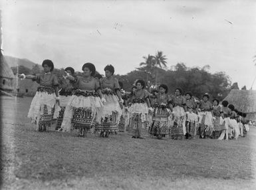
[[[10,67],[22,65],[29,69],[32,69],[33,66],[37,64],[35,62],[32,62],[31,60],[28,60],[27,58],[15,58],[13,56],[7,56],[7,55],[5,55],[4,57]],[[38,65],[39,65],[39,68],[43,70],[43,67],[41,66],[41,64],[38,64]]]

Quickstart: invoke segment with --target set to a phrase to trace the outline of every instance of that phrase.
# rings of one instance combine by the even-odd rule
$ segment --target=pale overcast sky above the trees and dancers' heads
[[[104,74],[139,67],[162,51],[168,68],[209,65],[251,88],[256,77],[256,1],[2,0],[3,54],[56,68],[92,62]],[[256,90],[256,82],[253,85]]]

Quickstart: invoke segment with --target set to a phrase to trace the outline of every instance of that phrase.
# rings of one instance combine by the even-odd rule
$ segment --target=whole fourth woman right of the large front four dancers
[[[192,98],[192,93],[187,92],[186,97],[186,139],[195,138],[198,126],[198,115],[196,113],[197,104]]]

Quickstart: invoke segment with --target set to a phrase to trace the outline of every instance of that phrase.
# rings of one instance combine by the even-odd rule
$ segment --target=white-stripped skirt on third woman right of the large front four
[[[186,134],[186,113],[181,106],[174,107],[170,134],[171,138],[177,138]]]

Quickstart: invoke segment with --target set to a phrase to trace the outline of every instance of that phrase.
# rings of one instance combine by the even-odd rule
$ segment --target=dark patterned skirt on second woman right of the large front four
[[[152,136],[166,136],[170,134],[169,108],[156,107],[153,112],[149,134]]]

